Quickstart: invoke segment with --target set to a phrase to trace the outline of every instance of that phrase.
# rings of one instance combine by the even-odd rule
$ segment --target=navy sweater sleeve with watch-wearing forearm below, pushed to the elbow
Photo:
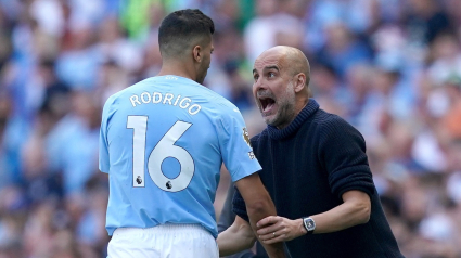
[[[321,126],[319,155],[331,192],[342,198],[350,190],[373,195],[374,184],[360,132],[337,116]]]

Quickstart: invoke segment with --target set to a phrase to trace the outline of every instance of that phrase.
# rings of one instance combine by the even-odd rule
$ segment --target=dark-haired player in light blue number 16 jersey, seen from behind
[[[176,11],[158,31],[156,77],[108,98],[100,132],[100,170],[108,173],[108,257],[218,257],[213,202],[222,162],[249,220],[276,215],[239,109],[203,87],[213,21]],[[282,244],[265,245],[284,257]]]

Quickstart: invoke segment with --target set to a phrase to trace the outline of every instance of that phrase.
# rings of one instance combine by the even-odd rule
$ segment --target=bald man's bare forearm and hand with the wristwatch
[[[313,234],[331,233],[367,223],[370,219],[371,201],[367,193],[348,191],[343,194],[343,204],[329,211],[311,215],[316,222]],[[291,241],[307,233],[303,219],[290,220],[271,216],[260,220],[257,233],[266,244]],[[277,237],[273,237],[276,233]]]

